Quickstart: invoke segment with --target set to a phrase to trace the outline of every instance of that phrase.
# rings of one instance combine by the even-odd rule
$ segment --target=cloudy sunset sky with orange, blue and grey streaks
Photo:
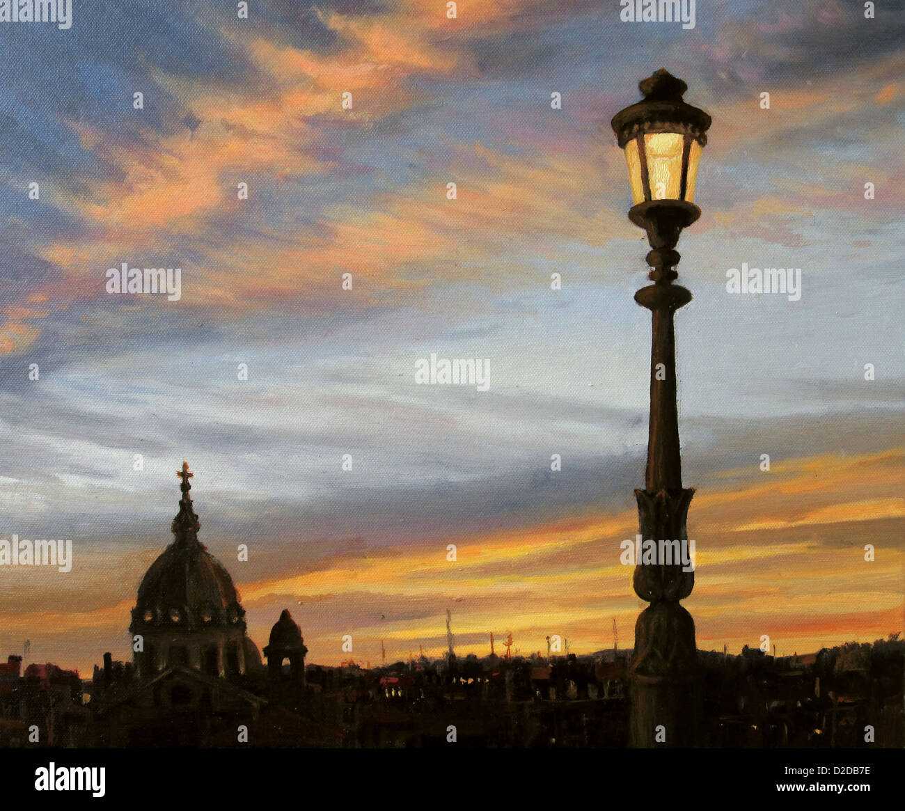
[[[612,618],[631,647],[650,315],[609,119],[661,67],[713,118],[676,318],[699,647],[905,631],[900,9],[249,6],[0,24],[0,538],[74,558],[0,567],[0,661],[130,658],[184,459],[259,647],[284,607],[310,663],[343,634],[362,663],[439,655],[446,608],[461,654],[590,653]],[[181,268],[181,299],[110,295],[122,262]],[[800,301],[729,294],[742,262],[800,267]],[[489,359],[489,390],[416,385],[431,353]]]

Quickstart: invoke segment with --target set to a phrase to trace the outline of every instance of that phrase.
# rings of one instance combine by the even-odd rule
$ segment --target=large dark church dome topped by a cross
[[[233,578],[198,540],[201,524],[188,496],[192,474],[185,464],[181,475],[183,498],[171,528],[175,539],[151,564],[138,587],[133,631],[141,625],[244,627],[245,612]]]

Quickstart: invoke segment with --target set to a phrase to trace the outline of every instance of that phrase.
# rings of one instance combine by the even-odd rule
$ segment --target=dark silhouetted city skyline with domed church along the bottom
[[[232,577],[199,542],[183,466],[174,541],[138,587],[133,662],[90,682],[0,664],[0,747],[615,747],[627,743],[627,654],[422,656],[305,664],[289,611],[262,656]],[[785,659],[699,652],[703,746],[901,747],[905,644]],[[870,730],[870,731],[866,731]],[[869,738],[872,738],[869,739]]]

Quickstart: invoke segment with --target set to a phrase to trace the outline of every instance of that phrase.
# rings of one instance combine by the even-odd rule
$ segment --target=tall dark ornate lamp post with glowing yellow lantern
[[[694,186],[710,116],[682,100],[688,86],[665,70],[638,85],[642,101],[616,113],[613,130],[625,151],[632,186],[629,219],[647,232],[653,284],[634,294],[651,310],[651,418],[644,489],[635,490],[642,539],[688,539],[686,519],[694,491],[681,483],[672,314],[691,293],[672,282],[679,274],[675,246],[681,229],[700,216]],[[636,561],[635,594],[651,605],[634,630],[629,745],[693,747],[699,743],[700,692],[694,620],[680,600],[691,594],[694,572],[681,561]]]

